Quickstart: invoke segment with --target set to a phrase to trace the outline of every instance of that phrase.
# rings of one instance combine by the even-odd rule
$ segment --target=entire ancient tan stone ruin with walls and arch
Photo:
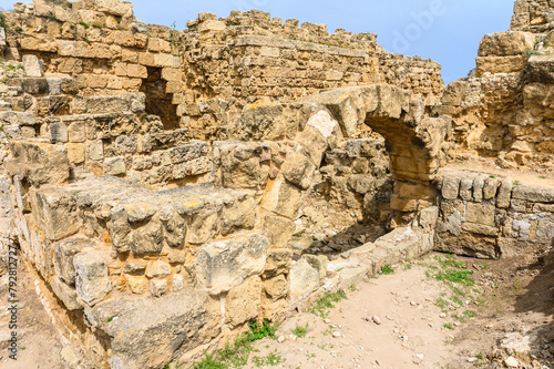
[[[192,363],[386,264],[554,245],[554,6],[517,0],[468,79],[261,11],[178,31],[119,0],[3,11],[0,254],[92,368]],[[22,74],[22,73],[21,73]],[[550,183],[550,185],[548,185]],[[2,268],[0,268],[1,270]]]

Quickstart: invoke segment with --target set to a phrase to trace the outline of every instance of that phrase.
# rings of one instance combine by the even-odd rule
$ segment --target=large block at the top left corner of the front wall
[[[52,240],[75,234],[82,225],[76,202],[69,191],[43,186],[31,192],[34,223]]]

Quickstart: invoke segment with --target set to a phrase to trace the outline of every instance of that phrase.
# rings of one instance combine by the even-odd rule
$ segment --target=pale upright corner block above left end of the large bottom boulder
[[[107,276],[107,265],[98,252],[86,252],[73,257],[75,267],[75,286],[80,299],[94,306],[112,290]]]

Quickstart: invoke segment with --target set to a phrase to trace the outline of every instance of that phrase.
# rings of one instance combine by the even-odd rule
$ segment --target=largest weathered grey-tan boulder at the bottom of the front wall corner
[[[88,309],[86,316],[93,327],[113,337],[111,367],[127,369],[164,367],[174,356],[216,337],[222,321],[219,304],[191,288],[156,299],[107,300]]]

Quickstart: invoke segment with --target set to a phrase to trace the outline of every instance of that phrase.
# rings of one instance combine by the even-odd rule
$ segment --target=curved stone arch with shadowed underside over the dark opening
[[[431,116],[425,100],[383,84],[330,90],[304,101],[326,106],[347,139],[361,124],[384,137],[396,180],[392,209],[412,213],[434,204],[432,182],[445,162],[449,116]]]

